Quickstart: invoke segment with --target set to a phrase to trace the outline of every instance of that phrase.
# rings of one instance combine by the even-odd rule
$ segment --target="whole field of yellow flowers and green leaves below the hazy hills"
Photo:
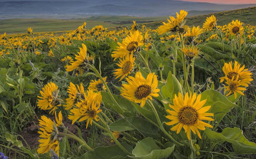
[[[256,8],[187,13],[1,21],[0,158],[255,159]]]

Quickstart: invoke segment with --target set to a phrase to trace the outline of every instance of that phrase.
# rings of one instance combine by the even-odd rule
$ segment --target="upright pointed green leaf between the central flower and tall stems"
[[[161,92],[163,94],[163,99],[170,98],[172,102],[175,94],[182,92],[182,86],[171,71],[168,73],[166,81],[166,84],[161,88]]]

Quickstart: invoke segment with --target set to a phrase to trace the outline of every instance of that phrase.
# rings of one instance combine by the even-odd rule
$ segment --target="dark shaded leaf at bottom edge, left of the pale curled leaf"
[[[122,146],[126,148],[129,152],[132,151],[132,146],[123,143]],[[84,155],[77,157],[75,159],[111,159],[115,156],[125,157],[126,153],[122,151],[117,145],[107,146],[107,147],[97,147],[92,151],[84,153]]]

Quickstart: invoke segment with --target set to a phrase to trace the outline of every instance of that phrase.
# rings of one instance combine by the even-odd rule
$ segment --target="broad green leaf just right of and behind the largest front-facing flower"
[[[220,121],[223,115],[230,112],[236,106],[235,103],[230,102],[223,94],[213,89],[208,89],[202,93],[201,100],[204,99],[207,99],[206,106],[212,106],[210,112],[214,113],[217,121]]]

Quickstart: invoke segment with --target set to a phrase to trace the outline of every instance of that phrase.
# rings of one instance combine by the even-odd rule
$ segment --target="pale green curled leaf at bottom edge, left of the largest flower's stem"
[[[136,144],[136,147],[132,150],[132,154],[135,157],[129,156],[132,159],[165,159],[171,155],[175,145],[161,149],[156,145],[153,138],[148,137]]]

